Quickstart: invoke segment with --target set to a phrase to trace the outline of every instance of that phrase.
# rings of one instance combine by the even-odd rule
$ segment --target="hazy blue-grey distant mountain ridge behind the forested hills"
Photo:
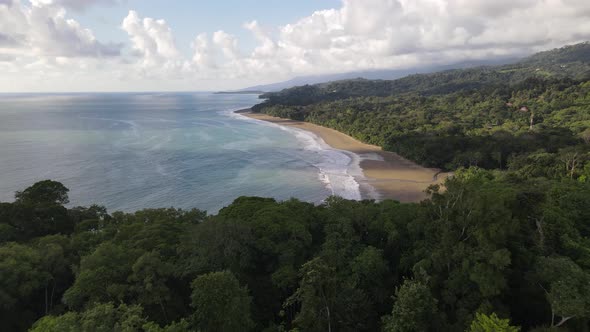
[[[327,75],[310,75],[310,76],[299,76],[288,81],[257,85],[248,87],[245,89],[238,90],[242,91],[265,91],[265,92],[276,92],[283,89],[292,88],[301,85],[313,85],[319,83],[326,83],[332,81],[342,81],[349,79],[363,78],[367,80],[395,80],[408,75],[413,74],[425,74],[450,69],[461,69],[461,68],[473,68],[479,66],[493,66],[501,64],[515,63],[519,59],[516,58],[501,58],[495,60],[476,60],[476,61],[465,61],[454,63],[450,65],[441,66],[425,66],[410,69],[385,69],[385,70],[368,70],[368,71],[355,71],[341,74],[327,74]]]

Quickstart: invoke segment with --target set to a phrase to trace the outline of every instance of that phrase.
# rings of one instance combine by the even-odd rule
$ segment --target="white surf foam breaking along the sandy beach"
[[[320,156],[318,158],[320,162],[313,163],[313,165],[318,169],[320,181],[325,184],[333,195],[350,200],[361,200],[363,198],[361,185],[359,184],[359,181],[365,184],[364,174],[360,167],[360,162],[363,159],[361,156],[349,151],[334,149],[321,137],[307,130],[252,119],[235,111],[226,111],[223,114],[243,121],[278,127],[295,136],[299,142],[303,143],[303,148],[306,151]],[[366,184],[365,187],[370,196],[369,198],[378,198],[373,188]]]

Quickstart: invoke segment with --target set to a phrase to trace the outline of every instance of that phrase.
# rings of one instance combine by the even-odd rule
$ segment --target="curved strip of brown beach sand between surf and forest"
[[[272,122],[282,126],[310,131],[321,137],[332,148],[350,151],[361,157],[360,166],[365,179],[357,179],[363,188],[363,181],[377,191],[378,199],[394,199],[400,202],[420,202],[428,195],[428,186],[444,182],[447,173],[438,169],[425,168],[380,147],[362,143],[334,129],[312,123],[276,118],[259,113],[240,112],[247,117]],[[366,190],[363,198],[371,198]]]

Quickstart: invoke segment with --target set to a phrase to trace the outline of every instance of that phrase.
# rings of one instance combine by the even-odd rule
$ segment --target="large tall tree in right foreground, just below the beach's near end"
[[[415,247],[423,258],[414,270],[424,269],[439,286],[439,307],[458,329],[509,288],[509,243],[520,235],[520,222],[510,208],[514,188],[492,172],[458,171],[445,185],[442,195],[433,195],[429,217],[419,220],[424,235]]]

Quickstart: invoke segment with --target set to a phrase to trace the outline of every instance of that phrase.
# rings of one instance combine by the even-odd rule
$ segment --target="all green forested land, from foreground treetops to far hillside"
[[[109,213],[55,181],[17,192],[0,203],[0,330],[589,331],[589,50],[254,108],[455,171],[421,203]]]

